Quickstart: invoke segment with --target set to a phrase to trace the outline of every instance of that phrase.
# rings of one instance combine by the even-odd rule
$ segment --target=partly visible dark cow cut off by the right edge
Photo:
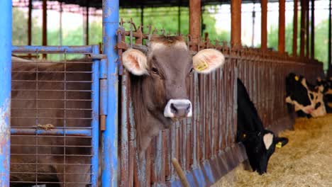
[[[327,113],[332,113],[332,77],[329,79],[317,79],[317,86],[323,86],[323,101]]]

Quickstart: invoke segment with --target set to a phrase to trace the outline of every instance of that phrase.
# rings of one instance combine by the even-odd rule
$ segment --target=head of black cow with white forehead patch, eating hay
[[[243,132],[239,140],[245,145],[248,160],[253,171],[258,174],[267,172],[267,164],[275,147],[282,147],[287,144],[286,137],[277,137],[270,130]]]

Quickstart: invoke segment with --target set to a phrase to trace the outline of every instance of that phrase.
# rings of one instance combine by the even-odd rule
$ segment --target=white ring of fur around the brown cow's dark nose
[[[170,99],[170,101],[167,102],[167,105],[164,109],[164,116],[166,118],[175,118],[176,113],[172,110],[172,107],[174,106],[182,106],[187,110],[187,118],[192,117],[192,102],[188,99]]]

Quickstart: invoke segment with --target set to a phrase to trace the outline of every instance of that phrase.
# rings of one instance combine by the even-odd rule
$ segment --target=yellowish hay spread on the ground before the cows
[[[297,119],[280,136],[289,143],[272,154],[267,174],[238,167],[214,186],[332,186],[332,114]]]

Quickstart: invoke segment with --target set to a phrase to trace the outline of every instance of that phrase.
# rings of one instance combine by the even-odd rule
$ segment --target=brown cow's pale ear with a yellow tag
[[[206,49],[192,57],[194,69],[201,74],[209,74],[225,63],[225,57],[218,50]]]

